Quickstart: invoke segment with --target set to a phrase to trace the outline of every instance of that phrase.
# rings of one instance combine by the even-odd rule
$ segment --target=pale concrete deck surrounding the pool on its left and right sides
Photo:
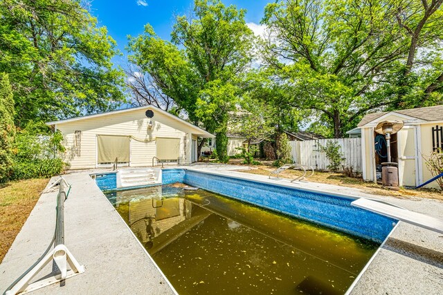
[[[291,184],[289,180],[269,180],[263,175],[230,171],[239,169],[239,166],[198,165],[181,168],[374,198],[443,219],[443,202],[438,200],[374,196],[360,189],[314,182]],[[67,279],[62,285],[53,284],[33,294],[174,294],[168,281],[89,173],[91,171],[65,175],[72,185],[65,202],[66,247],[86,267],[86,272]],[[3,259],[0,265],[2,292],[35,263],[51,241],[56,195],[57,191],[42,194]],[[44,269],[40,277],[49,272],[50,268]],[[350,294],[441,294],[442,289],[443,235],[400,222],[356,281]]]

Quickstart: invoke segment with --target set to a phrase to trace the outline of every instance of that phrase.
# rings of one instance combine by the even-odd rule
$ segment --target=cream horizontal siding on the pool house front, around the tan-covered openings
[[[57,124],[64,136],[64,160],[69,169],[88,169],[96,167],[96,135],[132,135],[130,144],[130,166],[150,166],[156,155],[156,137],[180,139],[180,162],[188,164],[190,153],[188,142],[189,128],[179,120],[174,120],[154,111],[152,130],[147,128],[150,119],[145,117],[145,110],[134,110],[125,113],[110,114],[101,117],[85,118],[75,122]],[[82,131],[80,155],[75,153],[75,131]],[[190,133],[189,133],[190,134]],[[188,137],[189,136],[189,137]],[[143,142],[152,140],[151,142]]]

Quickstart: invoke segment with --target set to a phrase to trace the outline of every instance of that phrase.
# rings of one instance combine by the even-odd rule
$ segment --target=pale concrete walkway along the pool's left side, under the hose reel
[[[72,185],[64,203],[65,244],[86,272],[32,294],[174,294],[88,173],[64,177]],[[39,198],[12,243],[0,265],[0,292],[33,265],[51,241],[57,192]],[[46,267],[36,278],[49,273],[51,267]]]

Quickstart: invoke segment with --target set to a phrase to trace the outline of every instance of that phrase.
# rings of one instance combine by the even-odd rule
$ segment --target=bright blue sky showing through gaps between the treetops
[[[244,8],[246,23],[260,30],[258,24],[263,17],[264,6],[273,0],[222,0],[228,6]],[[192,8],[192,0],[93,0],[91,14],[97,17],[99,26],[106,26],[109,35],[117,41],[123,57],[115,57],[114,64],[125,66],[127,35],[136,36],[150,23],[162,39],[170,40],[174,15],[184,15]]]

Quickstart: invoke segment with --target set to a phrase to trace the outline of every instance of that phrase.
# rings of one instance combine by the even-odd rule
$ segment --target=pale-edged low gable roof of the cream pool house
[[[76,122],[76,121],[80,121],[80,120],[89,120],[92,118],[96,118],[96,117],[104,117],[104,116],[108,116],[108,115],[116,115],[116,114],[120,114],[120,113],[126,113],[126,112],[130,112],[130,111],[137,111],[137,110],[152,110],[158,113],[161,113],[167,117],[172,118],[173,120],[177,120],[179,122],[181,122],[183,125],[189,127],[190,129],[192,129],[192,133],[195,133],[196,135],[199,135],[201,137],[215,137],[215,135],[209,133],[208,131],[201,129],[198,126],[195,126],[193,124],[190,124],[190,122],[187,122],[177,116],[172,115],[171,113],[168,113],[167,111],[163,111],[161,108],[157,108],[156,106],[138,106],[136,108],[125,108],[123,110],[117,110],[117,111],[110,111],[110,112],[105,112],[105,113],[97,113],[97,114],[92,114],[92,115],[84,115],[84,116],[80,116],[80,117],[73,117],[71,119],[65,119],[65,120],[58,120],[58,121],[53,121],[53,122],[48,122],[46,123],[46,125],[48,126],[55,126],[55,125],[59,125],[59,124],[65,124],[65,123],[70,123],[70,122]]]

